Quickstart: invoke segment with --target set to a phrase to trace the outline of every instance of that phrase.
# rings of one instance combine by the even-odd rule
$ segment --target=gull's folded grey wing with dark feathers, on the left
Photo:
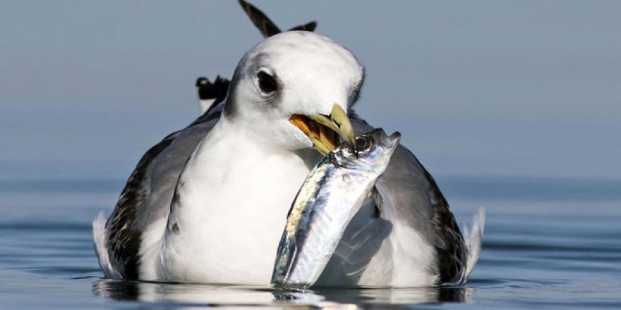
[[[229,81],[218,77],[210,84],[216,99],[212,107],[191,125],[171,133],[143,155],[106,222],[109,261],[124,279],[138,279],[138,252],[143,231],[150,223],[168,217],[183,166],[222,114]]]

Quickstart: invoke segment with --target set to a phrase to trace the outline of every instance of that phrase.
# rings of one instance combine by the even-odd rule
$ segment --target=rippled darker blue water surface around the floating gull
[[[107,280],[91,221],[123,180],[0,181],[0,301],[6,309],[202,306],[524,309],[621,307],[621,182],[440,177],[460,223],[487,212],[464,287],[322,289]]]

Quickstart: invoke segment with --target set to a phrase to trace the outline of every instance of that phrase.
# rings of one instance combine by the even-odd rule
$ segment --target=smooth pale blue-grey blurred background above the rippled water
[[[436,178],[621,179],[621,2],[251,3],[351,49]],[[236,1],[0,2],[0,180],[127,178],[260,39]]]

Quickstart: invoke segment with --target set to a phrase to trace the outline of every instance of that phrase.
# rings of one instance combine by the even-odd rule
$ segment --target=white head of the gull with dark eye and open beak
[[[339,136],[353,146],[346,112],[363,80],[363,66],[344,46],[313,32],[282,32],[241,58],[224,118],[243,122],[270,147],[326,154]]]

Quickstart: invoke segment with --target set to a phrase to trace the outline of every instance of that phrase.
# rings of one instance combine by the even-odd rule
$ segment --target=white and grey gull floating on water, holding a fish
[[[240,3],[267,38],[230,81],[197,80],[203,115],[149,149],[111,216],[95,218],[108,278],[270,284],[289,207],[310,170],[340,140],[353,147],[373,130],[353,110],[365,73],[349,49],[309,31],[316,24],[280,32]],[[483,211],[462,234],[432,176],[403,146],[375,188],[315,285],[465,283]]]

